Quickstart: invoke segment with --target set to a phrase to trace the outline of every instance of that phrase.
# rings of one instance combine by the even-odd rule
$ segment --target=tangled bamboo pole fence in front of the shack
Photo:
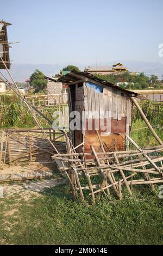
[[[99,141],[101,141],[97,134]],[[123,187],[133,196],[133,186],[148,185],[155,191],[154,184],[163,183],[163,147],[155,146],[141,149],[127,135],[135,150],[96,152],[91,146],[91,153],[77,153],[71,141],[67,141],[66,154],[55,154],[54,160],[64,161],[60,167],[62,173],[68,173],[70,186],[75,200],[85,202],[85,191],[89,191],[92,202],[96,203],[105,193],[112,193],[120,200],[123,198]],[[152,156],[151,156],[152,155]],[[89,156],[89,159],[86,159]],[[97,177],[98,183],[97,184]]]

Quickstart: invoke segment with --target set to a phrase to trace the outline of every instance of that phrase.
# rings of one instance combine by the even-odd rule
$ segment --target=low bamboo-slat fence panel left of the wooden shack
[[[51,156],[59,150],[66,153],[65,134],[51,128],[43,128],[49,141],[43,136],[41,129],[7,129],[2,131],[0,138],[0,168],[14,162],[48,163]],[[63,138],[63,141],[59,141]]]

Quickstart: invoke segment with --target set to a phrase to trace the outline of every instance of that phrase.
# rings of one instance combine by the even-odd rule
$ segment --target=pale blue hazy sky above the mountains
[[[162,0],[0,0],[14,63],[161,62]]]

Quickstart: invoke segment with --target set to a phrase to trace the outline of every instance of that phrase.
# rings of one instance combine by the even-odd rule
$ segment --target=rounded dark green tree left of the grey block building
[[[38,93],[40,92],[40,90],[45,89],[45,75],[43,75],[43,73],[40,70],[35,69],[34,73],[30,76],[30,85],[35,88],[35,93]]]

